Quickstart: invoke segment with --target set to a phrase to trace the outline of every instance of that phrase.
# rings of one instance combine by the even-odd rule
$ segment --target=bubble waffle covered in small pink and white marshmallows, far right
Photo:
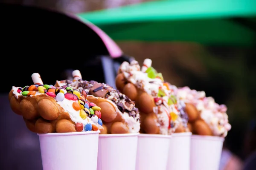
[[[206,97],[204,91],[191,90],[189,87],[179,88],[177,98],[186,104],[188,127],[193,134],[227,136],[231,125],[225,105],[218,105],[212,97]]]

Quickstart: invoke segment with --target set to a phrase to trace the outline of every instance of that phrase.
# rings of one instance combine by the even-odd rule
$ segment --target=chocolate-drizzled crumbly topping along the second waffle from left
[[[134,102],[131,101],[131,99],[129,99],[128,96],[125,96],[124,94],[120,93],[118,90],[114,89],[108,84],[99,83],[93,80],[86,81],[82,79],[79,79],[77,82],[66,80],[66,83],[67,85],[76,83],[76,89],[82,88],[85,91],[87,91],[87,94],[89,95],[111,100],[113,103],[116,104],[120,112],[126,112],[129,116],[133,118],[136,118],[137,114],[139,113],[138,108],[135,108]],[[81,90],[79,91],[81,92]],[[137,122],[140,121],[139,118],[136,120]]]

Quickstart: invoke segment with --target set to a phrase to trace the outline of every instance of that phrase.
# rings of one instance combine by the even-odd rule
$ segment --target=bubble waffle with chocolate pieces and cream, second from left
[[[96,81],[86,81],[74,76],[74,80],[61,80],[56,86],[68,85],[87,96],[89,102],[101,108],[95,114],[100,115],[104,130],[100,134],[138,133],[140,130],[140,114],[134,102],[113,87]],[[90,104],[90,103],[89,103]]]

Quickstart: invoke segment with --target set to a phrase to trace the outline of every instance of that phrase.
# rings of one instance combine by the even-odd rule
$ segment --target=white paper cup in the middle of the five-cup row
[[[136,170],[166,170],[170,135],[139,134]]]

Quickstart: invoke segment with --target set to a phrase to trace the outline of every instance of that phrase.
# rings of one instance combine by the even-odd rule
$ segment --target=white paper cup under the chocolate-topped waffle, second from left
[[[138,135],[99,135],[97,170],[135,170]]]

